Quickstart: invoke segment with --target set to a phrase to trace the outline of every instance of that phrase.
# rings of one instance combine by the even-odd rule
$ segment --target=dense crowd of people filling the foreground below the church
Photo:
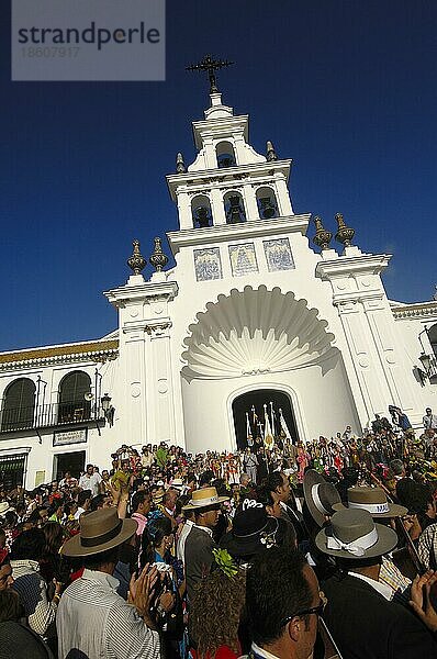
[[[437,657],[437,415],[0,483],[0,659]]]

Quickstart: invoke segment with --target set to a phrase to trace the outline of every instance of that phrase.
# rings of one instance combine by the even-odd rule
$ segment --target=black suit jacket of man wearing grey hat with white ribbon
[[[335,576],[322,590],[328,600],[324,618],[344,659],[437,657],[437,644],[422,622],[365,581]]]

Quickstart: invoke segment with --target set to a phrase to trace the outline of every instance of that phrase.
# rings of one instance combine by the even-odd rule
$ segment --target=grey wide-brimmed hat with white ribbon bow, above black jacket
[[[316,535],[315,544],[323,554],[363,560],[391,551],[397,544],[397,535],[376,524],[368,511],[345,509],[332,516],[330,524]]]

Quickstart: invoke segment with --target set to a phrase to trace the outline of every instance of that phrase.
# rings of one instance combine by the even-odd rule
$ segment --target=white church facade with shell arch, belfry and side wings
[[[11,482],[109,467],[122,444],[233,451],[246,412],[262,422],[262,401],[304,442],[346,425],[360,434],[389,405],[415,427],[437,410],[437,301],[390,301],[390,255],[361,252],[341,215],[334,249],[318,219],[293,211],[291,160],[271,143],[256,153],[248,116],[210,98],[193,123],[194,163],[178,154],[167,177],[176,267],[165,269],[158,239],[145,279],[135,243],[133,275],[104,293],[116,331],[0,353],[0,471]]]

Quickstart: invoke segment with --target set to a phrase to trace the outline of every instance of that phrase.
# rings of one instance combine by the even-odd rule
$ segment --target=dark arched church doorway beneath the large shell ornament
[[[298,429],[291,400],[287,393],[277,389],[255,389],[236,398],[232,404],[235,437],[239,450],[247,447],[247,435],[254,439],[265,435],[266,424],[270,426],[273,439],[283,433],[295,443]]]

